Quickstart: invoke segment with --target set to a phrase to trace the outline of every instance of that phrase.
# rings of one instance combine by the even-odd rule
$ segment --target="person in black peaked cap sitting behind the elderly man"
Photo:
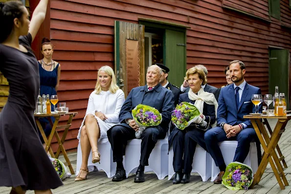
[[[177,106],[178,102],[179,102],[179,95],[182,93],[181,90],[179,89],[179,87],[172,85],[169,81],[168,81],[168,73],[170,71],[170,69],[163,65],[163,64],[154,64],[157,65],[161,68],[162,70],[162,76],[160,78],[159,83],[164,87],[167,88],[169,90],[171,90],[174,94],[174,101],[175,101],[175,107]]]

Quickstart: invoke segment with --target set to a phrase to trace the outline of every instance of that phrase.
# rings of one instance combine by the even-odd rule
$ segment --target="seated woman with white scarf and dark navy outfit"
[[[173,145],[174,151],[175,176],[173,184],[189,182],[196,145],[198,143],[206,150],[204,133],[216,126],[218,103],[213,93],[205,92],[201,87],[206,84],[203,70],[196,67],[188,69],[186,80],[188,80],[190,90],[188,93],[180,94],[179,104],[181,102],[192,103],[202,114],[184,130],[175,127],[170,133],[169,148]]]

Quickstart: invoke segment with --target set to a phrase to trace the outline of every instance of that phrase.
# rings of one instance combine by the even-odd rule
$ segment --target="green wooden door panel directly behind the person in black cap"
[[[186,38],[185,32],[165,30],[164,64],[169,67],[168,81],[181,86],[186,73]]]

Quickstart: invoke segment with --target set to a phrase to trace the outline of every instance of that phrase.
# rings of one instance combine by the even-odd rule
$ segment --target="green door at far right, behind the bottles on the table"
[[[287,109],[289,107],[289,50],[269,49],[269,93],[274,95],[275,86],[279,86],[279,93],[285,93]],[[289,107],[289,108],[288,108]]]

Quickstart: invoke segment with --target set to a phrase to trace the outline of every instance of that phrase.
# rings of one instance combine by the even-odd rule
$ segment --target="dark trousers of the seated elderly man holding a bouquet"
[[[132,128],[117,125],[107,131],[107,136],[113,151],[113,162],[122,162],[125,145],[128,140],[135,139],[135,131]],[[141,150],[139,163],[142,166],[149,165],[149,157],[157,139],[165,138],[166,133],[160,132],[155,127],[146,128],[141,134]]]

